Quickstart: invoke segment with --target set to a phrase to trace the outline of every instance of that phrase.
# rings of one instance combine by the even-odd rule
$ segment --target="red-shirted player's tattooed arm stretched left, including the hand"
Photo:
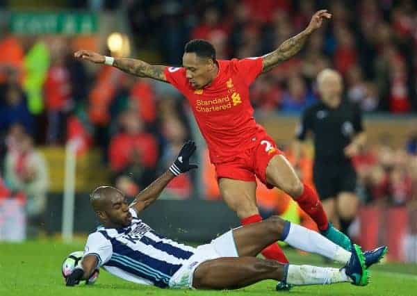
[[[94,51],[83,49],[76,51],[74,57],[88,60],[96,64],[104,64],[104,62],[106,62],[106,56],[97,54]],[[113,67],[117,67],[117,69],[121,69],[123,72],[133,74],[135,76],[147,77],[167,82],[164,74],[166,66],[163,65],[150,65],[143,60],[136,60],[134,58],[114,58]]]

